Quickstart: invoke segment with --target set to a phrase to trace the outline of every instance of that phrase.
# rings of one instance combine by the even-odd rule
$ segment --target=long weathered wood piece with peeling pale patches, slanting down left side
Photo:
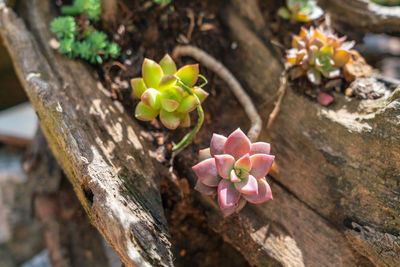
[[[26,23],[0,4],[0,32],[41,128],[93,225],[127,266],[171,266],[152,168],[138,126],[82,62],[49,46],[50,1],[26,1]]]

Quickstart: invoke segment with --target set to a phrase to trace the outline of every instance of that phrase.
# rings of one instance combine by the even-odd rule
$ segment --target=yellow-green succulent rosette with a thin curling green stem
[[[198,64],[177,70],[168,54],[159,63],[146,58],[142,65],[142,76],[131,80],[133,96],[141,100],[135,110],[137,119],[151,121],[159,116],[165,127],[175,130],[178,126],[190,127],[189,113],[197,108],[199,119],[195,127],[172,148],[173,155],[176,155],[190,144],[203,124],[201,103],[208,93],[202,87],[207,80],[199,74]],[[199,77],[204,83],[195,86]]]

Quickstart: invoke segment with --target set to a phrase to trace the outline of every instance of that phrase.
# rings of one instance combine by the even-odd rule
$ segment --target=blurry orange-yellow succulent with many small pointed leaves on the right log
[[[292,48],[286,51],[286,62],[293,66],[292,79],[306,75],[313,84],[320,84],[322,77],[332,79],[341,75],[341,68],[351,58],[354,42],[346,37],[325,32],[322,28],[302,28],[292,39]]]

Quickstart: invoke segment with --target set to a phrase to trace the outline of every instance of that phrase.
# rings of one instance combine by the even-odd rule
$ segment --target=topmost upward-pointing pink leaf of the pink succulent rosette
[[[250,152],[250,146],[249,138],[238,128],[228,136],[224,146],[224,153],[239,159]]]

